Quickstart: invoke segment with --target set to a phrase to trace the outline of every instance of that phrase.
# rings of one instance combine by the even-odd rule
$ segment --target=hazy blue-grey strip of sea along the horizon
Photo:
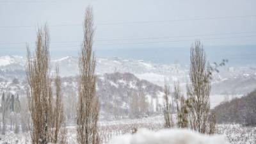
[[[256,67],[256,45],[236,45],[236,46],[208,46],[204,47],[207,58],[210,63],[220,63],[227,59],[227,65],[230,67]],[[33,49],[33,47],[31,47]],[[79,49],[52,49],[52,58],[61,58],[63,56],[77,56]],[[154,63],[180,63],[180,65],[189,65],[189,47],[132,47],[96,49],[97,57],[111,58],[117,57],[128,60],[145,60]],[[24,49],[2,49],[0,56],[18,55],[26,56]]]

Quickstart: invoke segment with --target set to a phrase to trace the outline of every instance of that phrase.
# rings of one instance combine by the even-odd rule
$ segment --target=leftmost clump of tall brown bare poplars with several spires
[[[31,56],[28,47],[26,74],[29,84],[28,106],[32,120],[31,141],[33,144],[59,143],[58,136],[64,122],[58,68],[55,78],[56,99],[52,94],[52,79],[49,74],[49,42],[49,30],[45,26],[44,29],[37,31],[34,56]]]

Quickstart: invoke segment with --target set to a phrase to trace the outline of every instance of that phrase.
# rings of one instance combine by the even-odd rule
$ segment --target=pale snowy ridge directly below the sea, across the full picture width
[[[26,58],[21,56],[2,56],[0,57],[0,76],[1,77],[24,77]],[[61,76],[77,76],[78,58],[66,56],[51,60],[51,70],[60,67]],[[161,64],[143,60],[124,60],[120,58],[97,58],[96,72],[99,75],[113,72],[130,72],[140,79],[147,79],[154,84],[163,86],[164,79],[170,82],[179,81],[181,84],[189,81],[189,67],[182,67],[176,64]],[[214,74],[214,83],[220,83],[228,79],[239,77],[256,77],[256,68],[252,67],[223,67],[220,73]]]

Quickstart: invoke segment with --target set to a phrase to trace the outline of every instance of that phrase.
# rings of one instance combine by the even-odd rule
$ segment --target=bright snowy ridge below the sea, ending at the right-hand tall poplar
[[[0,74],[4,77],[10,77],[13,75],[13,77],[24,78],[25,64],[26,58],[22,58],[20,56],[0,57]],[[54,67],[56,67],[56,65],[60,67],[61,76],[77,76],[79,72],[77,57],[67,56],[52,60],[52,72],[54,72]],[[15,71],[17,71],[17,74],[13,73]],[[170,82],[177,81],[177,79],[179,79],[180,83],[188,81],[186,70],[181,68],[179,64],[163,65],[143,60],[97,58],[96,72],[98,75],[113,72],[130,72],[140,79],[147,79],[148,81],[159,85],[163,85],[164,78]]]

